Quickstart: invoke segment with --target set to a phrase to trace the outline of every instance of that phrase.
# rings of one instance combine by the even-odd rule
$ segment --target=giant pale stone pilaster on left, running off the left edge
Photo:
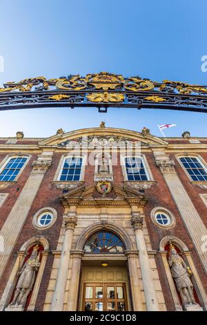
[[[4,252],[0,255],[0,278],[6,268],[10,254],[18,239],[21,229],[28,217],[28,213],[32,206],[35,196],[39,190],[46,170],[51,165],[53,152],[46,152],[41,154],[32,163],[32,172],[26,181],[17,201],[14,203],[8,218],[1,228],[1,236],[4,240]]]

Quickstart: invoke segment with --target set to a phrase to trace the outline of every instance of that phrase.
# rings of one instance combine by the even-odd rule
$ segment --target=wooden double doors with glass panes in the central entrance
[[[83,286],[84,311],[126,311],[126,284],[87,283]]]

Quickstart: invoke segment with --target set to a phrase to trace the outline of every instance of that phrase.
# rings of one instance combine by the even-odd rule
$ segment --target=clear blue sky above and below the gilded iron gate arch
[[[0,0],[0,85],[43,75],[108,71],[207,84],[201,57],[207,55],[206,0]],[[142,109],[27,109],[0,113],[0,136],[52,136],[98,127],[140,131],[175,123],[166,136],[207,136],[206,113]]]

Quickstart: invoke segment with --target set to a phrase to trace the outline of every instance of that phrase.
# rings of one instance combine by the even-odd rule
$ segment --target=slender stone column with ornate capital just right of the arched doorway
[[[146,243],[144,240],[143,216],[140,216],[139,213],[132,212],[131,221],[135,229],[137,250],[139,251],[139,263],[144,287],[144,295],[146,299],[146,308],[148,311],[157,311],[159,310],[159,306],[155,293],[155,286],[153,284],[152,272],[150,270],[150,262],[148,259],[148,252],[146,250]]]

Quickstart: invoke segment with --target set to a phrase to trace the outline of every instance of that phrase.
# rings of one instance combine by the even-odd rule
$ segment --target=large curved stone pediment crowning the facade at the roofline
[[[94,140],[95,139],[95,140]],[[70,142],[77,143],[92,143],[95,144],[97,142],[99,145],[108,141],[108,143],[113,143],[113,141],[117,142],[135,142],[140,141],[141,145],[146,146],[167,146],[168,142],[161,138],[157,138],[156,136],[152,136],[148,133],[139,133],[136,131],[130,131],[127,129],[115,129],[109,127],[96,127],[90,129],[79,129],[76,131],[71,131],[67,133],[58,133],[55,136],[51,136],[50,138],[46,138],[39,142],[40,147],[62,147],[67,148],[68,143]]]

